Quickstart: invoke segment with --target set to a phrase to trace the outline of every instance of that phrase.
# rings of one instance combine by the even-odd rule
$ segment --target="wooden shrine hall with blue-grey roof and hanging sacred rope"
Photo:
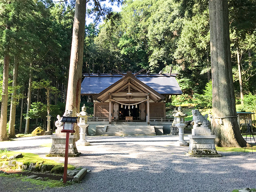
[[[116,70],[117,71],[117,70]],[[181,95],[176,74],[84,74],[81,95],[94,100],[93,118],[116,121],[165,119],[165,100]]]

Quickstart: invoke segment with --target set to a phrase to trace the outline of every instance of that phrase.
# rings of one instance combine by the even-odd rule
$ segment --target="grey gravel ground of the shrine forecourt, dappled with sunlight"
[[[20,180],[0,177],[0,191],[86,191],[86,192],[231,192],[255,188],[256,154],[228,152],[222,157],[188,157],[188,147],[176,147],[178,136],[88,136],[91,146],[77,146],[80,157],[68,163],[91,170],[81,183],[65,188],[36,188]],[[188,137],[185,136],[185,140]],[[64,157],[45,157],[50,136],[19,138],[0,142],[0,148],[30,152],[57,162]],[[13,188],[14,189],[14,188]]]

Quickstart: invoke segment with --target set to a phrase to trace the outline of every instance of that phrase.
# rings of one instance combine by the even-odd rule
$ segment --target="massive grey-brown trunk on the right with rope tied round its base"
[[[212,134],[216,135],[215,144],[217,146],[244,147],[246,142],[241,135],[236,117],[228,28],[228,1],[209,0],[209,15],[212,63]]]

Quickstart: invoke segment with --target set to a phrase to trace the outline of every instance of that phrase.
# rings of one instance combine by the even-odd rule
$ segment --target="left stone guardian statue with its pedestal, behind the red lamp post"
[[[65,117],[72,116],[72,110],[66,110],[63,114]],[[57,116],[57,121],[55,122],[55,126],[57,129],[55,130],[55,135],[51,136],[52,139],[52,147],[50,153],[47,154],[47,157],[54,157],[54,156],[65,156],[65,149],[66,149],[66,133],[62,133],[64,123],[61,122],[62,117],[60,115]],[[77,135],[69,135],[69,148],[68,148],[68,156],[77,157],[81,153],[78,153],[76,148],[76,138]]]

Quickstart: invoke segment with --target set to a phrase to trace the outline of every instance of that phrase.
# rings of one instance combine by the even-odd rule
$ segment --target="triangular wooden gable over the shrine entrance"
[[[128,71],[127,74],[116,83],[112,84],[96,96],[94,99],[106,102],[109,98],[112,98],[120,102],[139,102],[147,99],[159,102],[165,99],[165,97],[148,85],[138,80],[132,72]]]

